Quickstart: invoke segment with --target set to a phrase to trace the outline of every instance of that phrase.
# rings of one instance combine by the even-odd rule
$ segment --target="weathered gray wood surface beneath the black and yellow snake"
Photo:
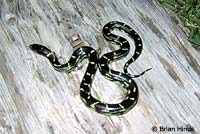
[[[151,134],[153,126],[168,127],[157,132],[162,134],[200,133],[200,49],[187,41],[176,15],[156,0],[0,0],[0,19],[1,134]],[[87,61],[70,74],[59,73],[29,45],[48,46],[66,62],[73,51],[70,39],[79,35],[82,45],[102,55],[115,49],[101,35],[111,20],[125,22],[142,37],[143,53],[129,71],[153,69],[135,79],[136,107],[107,117],[79,97]],[[111,67],[121,71],[125,61]],[[92,93],[119,102],[125,92],[97,72]],[[168,131],[189,126],[193,132]]]

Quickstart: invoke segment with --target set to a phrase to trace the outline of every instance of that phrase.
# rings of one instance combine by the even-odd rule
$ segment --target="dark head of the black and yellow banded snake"
[[[51,53],[51,50],[49,50],[47,47],[39,45],[39,44],[31,44],[29,47],[33,52],[35,52],[39,55],[45,56],[45,57],[49,53]]]

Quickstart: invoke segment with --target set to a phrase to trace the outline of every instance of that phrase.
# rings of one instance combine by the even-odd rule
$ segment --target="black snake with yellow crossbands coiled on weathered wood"
[[[135,42],[135,51],[132,57],[125,63],[124,72],[110,69],[109,64],[114,61],[126,57],[130,51],[130,44],[124,37],[113,33],[113,30],[118,30],[126,33]],[[53,68],[59,72],[70,73],[84,59],[88,59],[89,63],[83,79],[80,84],[80,97],[82,102],[91,110],[104,115],[122,115],[130,111],[138,102],[139,90],[136,82],[132,79],[143,75],[147,69],[139,75],[131,75],[128,73],[128,67],[133,63],[142,52],[142,39],[138,33],[130,26],[123,22],[111,21],[104,25],[102,30],[104,38],[114,45],[119,46],[119,49],[108,52],[99,58],[98,52],[90,46],[81,46],[76,49],[66,63],[60,63],[55,52],[51,51],[46,46],[40,44],[31,44],[29,47],[35,53],[46,57]],[[91,85],[97,69],[108,80],[119,84],[127,90],[124,100],[120,103],[106,103],[91,94]]]

